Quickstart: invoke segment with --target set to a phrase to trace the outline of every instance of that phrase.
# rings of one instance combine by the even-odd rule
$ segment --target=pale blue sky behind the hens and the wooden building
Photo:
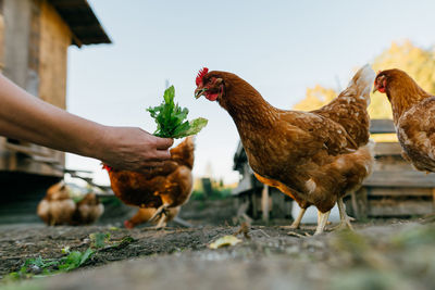
[[[160,104],[166,80],[175,99],[209,125],[197,136],[194,175],[238,180],[233,119],[194,98],[202,66],[237,74],[272,105],[290,109],[306,89],[343,88],[355,70],[391,41],[435,43],[435,1],[88,0],[113,45],[69,51],[67,110],[98,123],[156,124],[146,112]],[[67,154],[67,167],[90,169],[109,184],[100,162]]]

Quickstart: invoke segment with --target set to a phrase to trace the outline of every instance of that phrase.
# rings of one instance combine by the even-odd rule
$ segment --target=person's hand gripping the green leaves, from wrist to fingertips
[[[107,126],[98,159],[115,169],[140,172],[171,159],[169,149],[173,143],[173,139],[159,138],[140,128]]]

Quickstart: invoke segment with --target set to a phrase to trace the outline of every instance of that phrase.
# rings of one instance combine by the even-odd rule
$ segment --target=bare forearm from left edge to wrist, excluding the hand
[[[53,149],[100,157],[95,150],[104,126],[28,94],[0,76],[0,135]]]

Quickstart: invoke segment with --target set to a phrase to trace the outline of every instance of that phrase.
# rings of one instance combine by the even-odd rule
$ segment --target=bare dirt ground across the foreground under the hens
[[[313,225],[296,235],[254,225],[250,238],[238,236],[237,245],[211,250],[212,241],[239,226],[232,225],[234,212],[225,202],[206,205],[196,203],[196,214],[186,211],[194,228],[0,226],[3,277],[29,257],[62,256],[65,247],[84,251],[90,234],[110,232],[112,241],[133,238],[97,251],[78,269],[20,283],[3,279],[0,289],[435,289],[434,216],[365,220],[355,224],[355,232],[328,230],[318,237],[306,235],[313,234]],[[196,219],[211,212],[219,212],[223,224]]]

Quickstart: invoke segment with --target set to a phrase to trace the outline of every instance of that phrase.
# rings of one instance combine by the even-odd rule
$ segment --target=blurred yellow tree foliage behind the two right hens
[[[427,92],[435,93],[435,48],[422,49],[411,41],[393,42],[391,46],[374,59],[375,72],[388,68],[400,68],[407,72]],[[306,98],[294,109],[301,111],[315,110],[327,104],[338,94],[337,91],[315,85],[307,88]],[[369,106],[371,118],[393,118],[391,105],[385,94],[375,92]],[[376,141],[395,141],[395,135],[378,136]]]

